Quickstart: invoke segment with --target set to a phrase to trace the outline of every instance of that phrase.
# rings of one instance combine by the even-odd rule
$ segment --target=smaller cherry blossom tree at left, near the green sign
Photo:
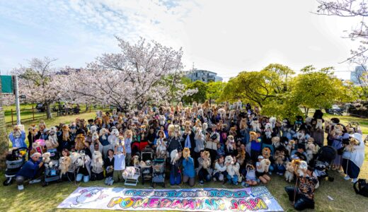
[[[18,75],[19,94],[25,95],[29,102],[40,102],[45,105],[47,119],[52,118],[50,105],[63,98],[62,84],[57,76],[57,69],[52,66],[56,59],[44,57],[33,58],[28,66],[13,69]]]

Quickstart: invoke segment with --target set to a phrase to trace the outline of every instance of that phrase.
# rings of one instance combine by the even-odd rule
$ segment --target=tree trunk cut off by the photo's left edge
[[[1,93],[1,81],[0,81],[0,170],[3,170],[6,167],[5,159],[8,150],[9,150],[9,140],[8,134],[6,134],[6,125],[3,110],[3,98]]]

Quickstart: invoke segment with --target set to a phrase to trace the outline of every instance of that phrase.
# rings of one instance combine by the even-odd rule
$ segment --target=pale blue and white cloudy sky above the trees
[[[104,52],[118,52],[114,35],[183,47],[185,69],[195,63],[225,79],[270,63],[351,70],[339,62],[353,46],[341,38],[343,30],[355,20],[316,16],[310,13],[316,6],[312,0],[0,0],[0,71],[33,57],[79,68]]]

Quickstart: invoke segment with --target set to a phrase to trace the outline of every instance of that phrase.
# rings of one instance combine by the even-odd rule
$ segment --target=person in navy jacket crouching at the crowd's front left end
[[[24,181],[27,179],[30,180],[30,184],[40,182],[41,179],[37,179],[41,176],[42,171],[44,170],[43,162],[40,160],[40,153],[33,153],[30,156],[30,160],[28,160],[22,167],[21,170],[16,174],[16,184],[18,185],[18,190],[23,190]]]

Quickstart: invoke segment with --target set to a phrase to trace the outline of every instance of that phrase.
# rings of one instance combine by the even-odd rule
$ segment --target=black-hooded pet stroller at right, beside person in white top
[[[319,149],[314,161],[314,173],[318,180],[327,178],[328,181],[333,182],[334,178],[328,176],[328,170],[336,155],[337,151],[332,146],[323,146]]]

